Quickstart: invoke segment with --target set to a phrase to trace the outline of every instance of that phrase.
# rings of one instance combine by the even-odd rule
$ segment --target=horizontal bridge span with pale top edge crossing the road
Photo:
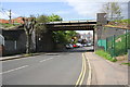
[[[46,24],[51,30],[93,30],[95,25],[96,21],[62,21]]]

